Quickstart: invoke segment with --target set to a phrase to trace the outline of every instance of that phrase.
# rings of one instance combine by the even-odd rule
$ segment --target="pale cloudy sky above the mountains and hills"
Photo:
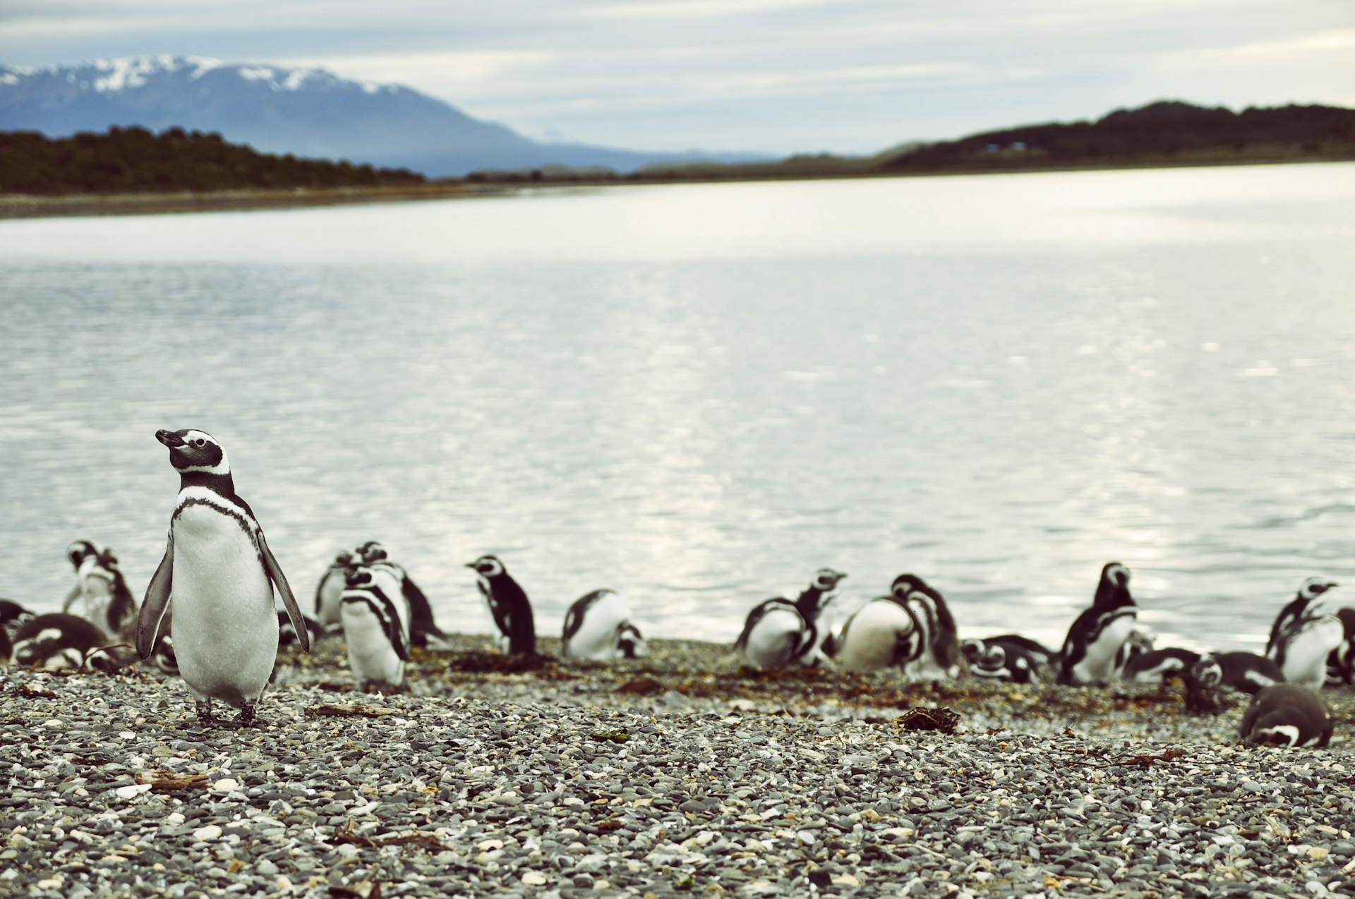
[[[402,84],[547,141],[869,154],[1179,99],[1355,107],[1351,0],[3,0],[0,62]]]

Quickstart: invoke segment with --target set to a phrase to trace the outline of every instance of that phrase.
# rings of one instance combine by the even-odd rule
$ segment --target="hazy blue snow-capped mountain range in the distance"
[[[633,172],[654,162],[766,158],[542,144],[417,91],[325,69],[178,56],[43,69],[0,65],[0,131],[66,137],[110,126],[218,133],[266,153],[408,168],[430,177],[549,165]]]

